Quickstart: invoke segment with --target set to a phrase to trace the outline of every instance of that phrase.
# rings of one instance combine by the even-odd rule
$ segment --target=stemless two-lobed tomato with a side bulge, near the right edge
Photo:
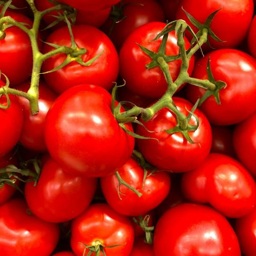
[[[209,203],[229,218],[248,214],[256,203],[256,184],[237,160],[211,153],[182,177],[184,196],[195,203]]]

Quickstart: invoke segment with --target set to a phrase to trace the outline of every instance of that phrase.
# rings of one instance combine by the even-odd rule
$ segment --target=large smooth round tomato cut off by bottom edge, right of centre
[[[191,203],[167,210],[154,234],[156,256],[240,256],[238,238],[218,211]]]

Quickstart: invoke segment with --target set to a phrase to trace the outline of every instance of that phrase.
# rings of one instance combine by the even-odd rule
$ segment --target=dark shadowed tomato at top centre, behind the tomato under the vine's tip
[[[121,20],[109,18],[101,29],[110,36],[118,50],[123,41],[136,28],[150,22],[164,22],[164,14],[161,6],[156,0],[123,0],[117,8],[122,6]],[[154,10],[154,12],[152,11]],[[114,24],[113,24],[114,23]],[[111,28],[112,26],[113,29]]]

